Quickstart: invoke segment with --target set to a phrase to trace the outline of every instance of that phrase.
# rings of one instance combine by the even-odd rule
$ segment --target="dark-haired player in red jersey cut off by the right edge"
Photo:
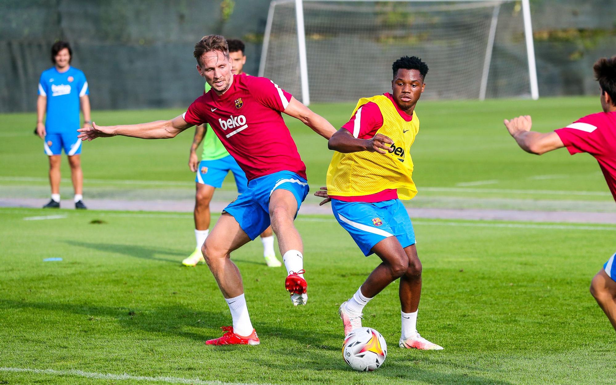
[[[607,186],[616,200],[616,56],[594,63],[594,76],[601,88],[603,112],[584,116],[569,126],[541,134],[530,131],[530,116],[505,120],[509,134],[522,150],[541,155],[567,147],[571,155],[590,153],[598,161]],[[594,276],[590,293],[597,300],[616,330],[616,254]]]

